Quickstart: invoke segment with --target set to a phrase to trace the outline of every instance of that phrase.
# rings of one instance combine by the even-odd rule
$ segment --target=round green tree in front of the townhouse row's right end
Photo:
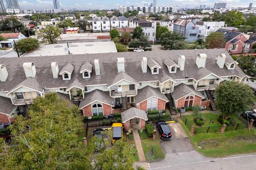
[[[254,95],[249,86],[237,81],[225,81],[215,90],[216,106],[223,119],[238,115],[251,108]]]

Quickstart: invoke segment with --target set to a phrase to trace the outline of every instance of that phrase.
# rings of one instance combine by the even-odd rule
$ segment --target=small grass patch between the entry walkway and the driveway
[[[142,148],[147,162],[154,162],[164,159],[165,155],[159,140],[145,139],[141,140]],[[153,147],[153,154],[151,149]]]

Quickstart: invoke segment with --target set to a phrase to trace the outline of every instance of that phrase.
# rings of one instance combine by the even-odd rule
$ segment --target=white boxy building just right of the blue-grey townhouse
[[[217,31],[218,29],[225,27],[225,22],[205,22],[205,21],[199,21],[196,23],[196,27],[199,28],[198,35],[200,37],[205,38],[210,35],[210,33]]]

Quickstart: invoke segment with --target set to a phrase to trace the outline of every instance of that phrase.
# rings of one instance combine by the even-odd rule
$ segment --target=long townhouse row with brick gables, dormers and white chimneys
[[[48,92],[88,117],[163,110],[167,103],[214,108],[211,94],[221,82],[246,78],[225,49],[0,58],[0,122]]]

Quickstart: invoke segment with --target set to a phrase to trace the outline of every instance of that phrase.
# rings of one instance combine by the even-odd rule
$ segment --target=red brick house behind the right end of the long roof
[[[226,39],[226,43],[222,43],[220,48],[225,48],[229,54],[243,53],[245,41],[249,39],[244,33],[225,29],[219,29],[216,32],[223,33]]]

